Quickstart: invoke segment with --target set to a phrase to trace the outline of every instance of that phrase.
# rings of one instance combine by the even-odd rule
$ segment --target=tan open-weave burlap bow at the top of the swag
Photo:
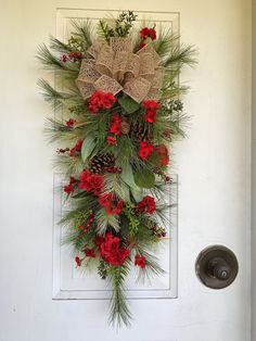
[[[158,66],[161,58],[152,46],[132,53],[130,39],[114,37],[110,46],[97,40],[87,53],[76,79],[85,100],[97,90],[113,94],[123,91],[138,103],[161,98],[165,70]]]

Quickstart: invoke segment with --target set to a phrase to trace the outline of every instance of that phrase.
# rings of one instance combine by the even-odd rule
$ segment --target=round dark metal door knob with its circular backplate
[[[208,288],[222,289],[236,278],[239,264],[234,253],[226,247],[213,245],[197,256],[195,271]]]

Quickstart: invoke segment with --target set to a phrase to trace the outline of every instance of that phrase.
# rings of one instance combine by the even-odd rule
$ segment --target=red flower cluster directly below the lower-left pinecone
[[[92,191],[94,195],[99,197],[103,186],[104,178],[102,176],[92,174],[88,169],[80,174],[80,189],[85,189],[87,192]]]

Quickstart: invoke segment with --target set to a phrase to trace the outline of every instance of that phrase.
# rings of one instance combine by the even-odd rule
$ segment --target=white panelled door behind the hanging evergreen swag
[[[165,294],[166,282],[152,283],[153,294],[135,289],[132,328],[116,333],[105,321],[107,302],[94,300],[100,295],[81,300],[84,279],[60,270],[62,251],[52,232],[54,150],[43,140],[49,108],[36,88],[42,74],[34,56],[49,34],[65,29],[63,13],[127,8],[157,12],[149,14],[154,20],[170,15],[181,39],[199,47],[200,64],[182,76],[192,87],[185,101],[192,118],[189,139],[175,151],[179,228],[167,260],[175,260],[166,279],[170,290]],[[251,2],[24,0],[1,3],[0,16],[0,341],[251,340]],[[230,248],[239,261],[238,278],[222,290],[206,288],[195,275],[197,255],[212,244]]]

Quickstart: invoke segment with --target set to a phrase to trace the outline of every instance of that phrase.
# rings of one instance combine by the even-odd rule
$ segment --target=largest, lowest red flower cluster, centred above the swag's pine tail
[[[106,233],[99,244],[100,255],[108,264],[119,266],[130,255],[130,250],[119,245],[120,239],[113,233]]]

